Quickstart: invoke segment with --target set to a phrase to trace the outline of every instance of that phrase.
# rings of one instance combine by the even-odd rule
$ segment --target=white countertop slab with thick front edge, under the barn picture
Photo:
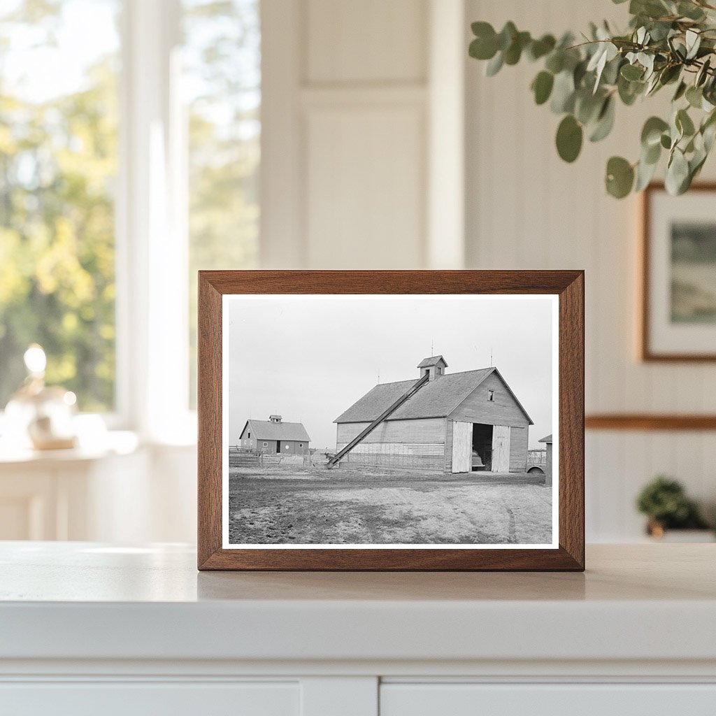
[[[0,659],[715,662],[716,545],[585,574],[199,573],[188,546],[0,543]]]

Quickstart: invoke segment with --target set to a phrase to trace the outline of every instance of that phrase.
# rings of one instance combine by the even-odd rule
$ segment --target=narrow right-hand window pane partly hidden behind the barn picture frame
[[[196,272],[258,261],[259,0],[183,0],[188,107],[190,403],[196,393]]]

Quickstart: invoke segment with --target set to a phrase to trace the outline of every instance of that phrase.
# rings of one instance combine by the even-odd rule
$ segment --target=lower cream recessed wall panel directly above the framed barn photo
[[[317,109],[307,118],[307,231],[313,269],[422,263],[422,107]]]

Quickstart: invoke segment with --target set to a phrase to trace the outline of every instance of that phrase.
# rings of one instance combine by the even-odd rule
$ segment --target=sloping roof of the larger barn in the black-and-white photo
[[[488,375],[496,372],[515,398],[527,419],[526,410],[515,397],[505,379],[496,368],[481,368],[463,373],[448,373],[437,380],[427,382],[407,402],[393,412],[387,420],[410,420],[417,417],[445,417],[460,405]],[[381,383],[369,390],[360,400],[354,402],[333,422],[370,422],[405,393],[415,380],[400,380],[395,383]]]

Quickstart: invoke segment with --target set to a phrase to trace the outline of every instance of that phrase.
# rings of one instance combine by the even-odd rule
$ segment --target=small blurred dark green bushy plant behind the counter
[[[677,480],[666,475],[654,478],[639,494],[637,509],[649,518],[647,534],[654,538],[663,538],[669,530],[697,530],[700,541],[707,541],[703,531],[709,525]]]

